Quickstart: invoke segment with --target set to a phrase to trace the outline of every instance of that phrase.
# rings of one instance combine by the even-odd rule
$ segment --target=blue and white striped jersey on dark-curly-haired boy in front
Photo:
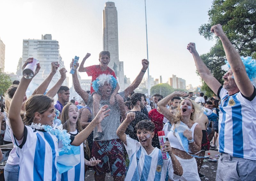
[[[155,148],[147,154],[140,142],[126,135],[127,145],[124,144],[130,164],[125,181],[165,181],[179,180],[180,176],[173,173],[171,159],[163,160],[161,150]]]

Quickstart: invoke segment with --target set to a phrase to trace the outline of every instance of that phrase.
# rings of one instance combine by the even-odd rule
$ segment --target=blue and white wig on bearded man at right
[[[252,84],[256,86],[256,61],[252,59],[252,57],[244,57],[241,56],[241,60],[244,63],[246,73],[248,77],[250,78]],[[226,64],[221,66],[222,70],[228,71],[230,69],[230,65],[228,61],[225,61]]]

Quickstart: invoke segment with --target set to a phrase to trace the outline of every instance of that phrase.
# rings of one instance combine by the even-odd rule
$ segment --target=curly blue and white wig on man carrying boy
[[[94,89],[94,91],[99,91],[99,87],[104,85],[104,83],[107,82],[111,85],[112,87],[112,91],[114,89],[116,89],[116,84],[117,84],[117,80],[115,79],[115,77],[113,77],[112,75],[106,75],[106,74],[101,74],[100,76],[98,76],[96,78],[95,81],[92,82],[92,87]]]

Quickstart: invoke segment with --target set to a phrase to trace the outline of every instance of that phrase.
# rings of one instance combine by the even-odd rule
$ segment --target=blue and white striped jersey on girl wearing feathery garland
[[[73,140],[71,138],[71,142]],[[20,158],[19,180],[59,180],[56,168],[57,137],[25,126],[21,141],[15,139],[16,152]]]

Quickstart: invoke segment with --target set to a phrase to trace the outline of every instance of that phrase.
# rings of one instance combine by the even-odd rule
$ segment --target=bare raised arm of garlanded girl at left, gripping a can
[[[25,64],[22,66],[22,70],[30,62],[33,62],[33,58],[29,58],[28,60],[26,60]],[[39,70],[40,70],[40,65],[38,63],[34,76],[36,76]],[[26,93],[26,90],[31,80],[32,78],[31,79],[26,79],[24,77],[21,78],[20,84],[12,98],[12,102],[9,107],[9,113],[8,113],[9,121],[12,127],[12,132],[17,140],[20,140],[24,136],[24,124],[20,117],[20,110],[21,110],[21,105],[23,102],[24,95]]]

